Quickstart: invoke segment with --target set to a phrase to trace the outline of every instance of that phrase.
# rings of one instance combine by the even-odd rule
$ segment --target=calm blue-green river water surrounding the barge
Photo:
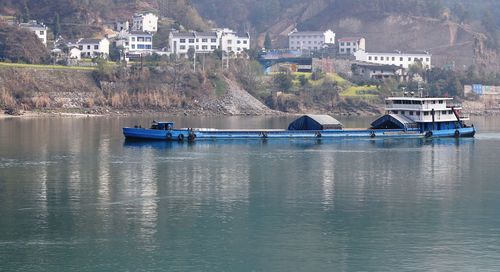
[[[500,271],[500,120],[460,140],[124,141],[150,121],[0,120],[0,271]]]

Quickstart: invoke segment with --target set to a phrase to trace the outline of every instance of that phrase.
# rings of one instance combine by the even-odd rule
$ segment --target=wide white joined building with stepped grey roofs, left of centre
[[[230,29],[214,29],[213,32],[170,32],[170,52],[187,54],[189,48],[196,53],[211,53],[216,49],[237,56],[250,49],[250,36],[237,35]]]

